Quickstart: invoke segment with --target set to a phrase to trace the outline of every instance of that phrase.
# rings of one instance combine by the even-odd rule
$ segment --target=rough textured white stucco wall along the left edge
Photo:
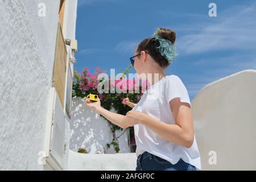
[[[0,0],[0,12],[0,169],[41,170],[59,1]]]

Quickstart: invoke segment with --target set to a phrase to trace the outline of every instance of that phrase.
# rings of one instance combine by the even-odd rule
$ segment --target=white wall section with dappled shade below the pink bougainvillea
[[[106,144],[112,142],[113,139],[108,121],[86,107],[81,98],[77,97],[72,100],[71,114],[69,148],[73,151],[84,148],[89,153],[103,154]],[[128,132],[129,130],[118,138],[119,153],[130,152]],[[115,134],[119,136],[121,133],[122,131],[116,131]],[[115,153],[113,146],[106,150],[106,153]]]

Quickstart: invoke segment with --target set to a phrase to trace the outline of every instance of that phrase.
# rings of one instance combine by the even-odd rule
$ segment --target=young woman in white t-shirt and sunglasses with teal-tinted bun
[[[101,102],[85,104],[115,125],[126,129],[134,126],[137,145],[136,170],[197,170],[201,169],[187,89],[176,75],[164,69],[175,58],[174,31],[158,28],[136,48],[131,64],[140,77],[150,75],[150,88],[126,115],[101,107]],[[155,78],[159,77],[159,81]]]

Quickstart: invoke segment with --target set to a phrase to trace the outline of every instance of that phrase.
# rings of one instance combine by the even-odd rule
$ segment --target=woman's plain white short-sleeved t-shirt
[[[176,75],[168,75],[150,86],[143,93],[138,104],[133,107],[133,110],[146,113],[161,122],[175,124],[169,102],[176,97],[179,97],[181,102],[188,102],[191,105],[188,91],[180,78]],[[172,164],[176,164],[181,158],[184,162],[201,169],[195,134],[194,142],[190,148],[171,143],[141,124],[134,125],[134,134],[137,156],[147,151],[168,160]]]

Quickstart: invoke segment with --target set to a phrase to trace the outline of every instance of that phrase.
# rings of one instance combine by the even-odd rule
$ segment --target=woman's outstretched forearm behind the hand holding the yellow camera
[[[115,125],[122,127],[123,129],[126,129],[128,127],[125,115],[113,113],[112,111],[106,110],[103,107],[99,107],[98,109],[96,109],[96,111]]]

